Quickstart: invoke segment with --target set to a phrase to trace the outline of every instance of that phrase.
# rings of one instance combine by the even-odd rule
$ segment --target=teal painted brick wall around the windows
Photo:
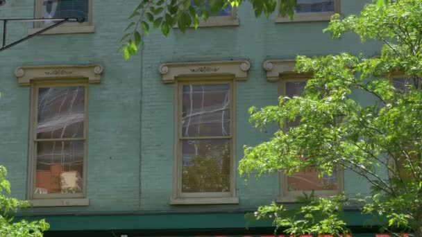
[[[359,12],[369,0],[343,0],[344,15]],[[326,55],[349,51],[375,55],[379,44],[361,44],[353,35],[331,40],[322,30],[327,22],[274,23],[253,15],[250,3],[238,9],[239,26],[158,30],[144,40],[144,49],[128,62],[116,53],[136,0],[94,0],[95,33],[42,35],[0,53],[0,164],[8,168],[12,194],[26,197],[30,88],[19,87],[17,67],[44,64],[101,64],[99,85],[90,85],[88,207],[35,208],[36,213],[97,213],[121,211],[233,211],[253,210],[278,198],[278,175],[250,179],[236,176],[237,205],[170,206],[173,193],[174,91],[164,84],[158,67],[163,62],[249,60],[248,79],[236,82],[236,161],[244,145],[271,135],[248,123],[247,109],[276,104],[277,83],[267,82],[262,62],[296,55]],[[3,17],[33,17],[33,0],[11,0]],[[1,30],[1,28],[0,28]],[[10,28],[10,37],[26,28]],[[362,103],[366,95],[355,95]],[[367,186],[346,171],[346,193],[365,193]]]

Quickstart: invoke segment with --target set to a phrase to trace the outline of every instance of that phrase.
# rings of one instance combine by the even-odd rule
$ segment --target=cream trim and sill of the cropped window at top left
[[[88,1],[88,19],[85,22],[67,22],[51,30],[47,30],[42,35],[54,35],[54,34],[71,34],[71,33],[94,33],[94,23],[92,17],[92,3],[93,0]],[[35,0],[35,18],[42,18],[42,0]],[[47,28],[51,24],[44,24],[42,21],[37,21],[34,24],[34,28],[28,29],[28,34],[37,33],[44,28]]]

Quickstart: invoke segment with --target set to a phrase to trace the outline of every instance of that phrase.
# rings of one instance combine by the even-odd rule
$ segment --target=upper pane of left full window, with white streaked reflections
[[[38,90],[38,139],[83,138],[84,87]]]

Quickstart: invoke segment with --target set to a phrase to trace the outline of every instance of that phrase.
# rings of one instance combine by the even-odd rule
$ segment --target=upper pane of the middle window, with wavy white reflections
[[[230,135],[230,85],[183,85],[183,137]]]

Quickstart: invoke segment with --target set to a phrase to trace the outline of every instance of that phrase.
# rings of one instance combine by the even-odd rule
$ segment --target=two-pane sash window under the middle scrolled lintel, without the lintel
[[[230,197],[232,82],[179,83],[180,198]]]

